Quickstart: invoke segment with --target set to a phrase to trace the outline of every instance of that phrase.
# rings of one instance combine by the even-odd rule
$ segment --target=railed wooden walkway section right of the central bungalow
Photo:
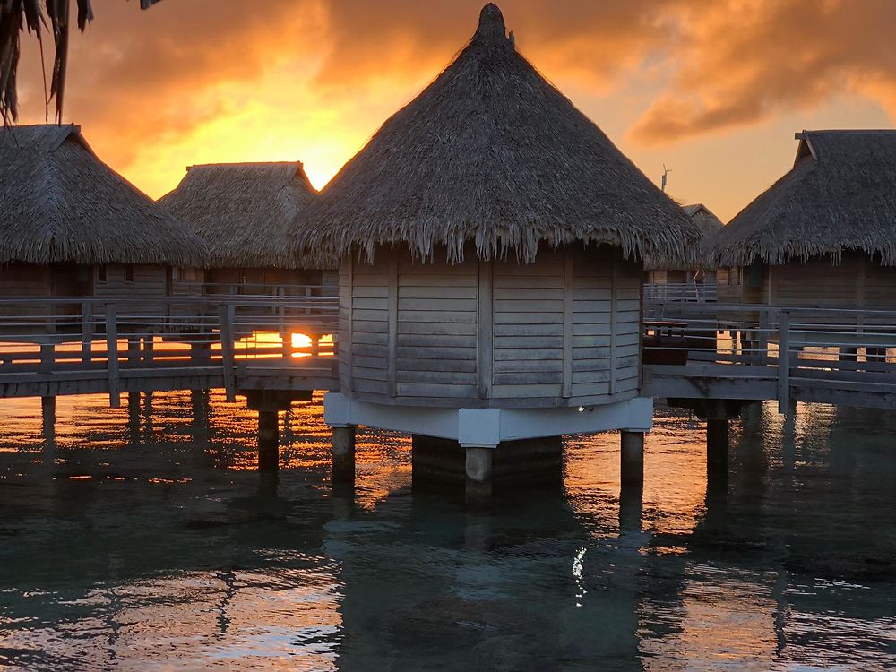
[[[896,409],[896,309],[645,302],[643,392]]]

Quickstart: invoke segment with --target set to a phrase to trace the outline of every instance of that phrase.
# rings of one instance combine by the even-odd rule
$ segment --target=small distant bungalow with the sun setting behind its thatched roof
[[[298,161],[187,168],[159,205],[202,237],[210,254],[204,273],[182,269],[181,281],[204,282],[211,293],[324,284],[335,291],[336,263],[289,249],[297,214],[316,196]]]

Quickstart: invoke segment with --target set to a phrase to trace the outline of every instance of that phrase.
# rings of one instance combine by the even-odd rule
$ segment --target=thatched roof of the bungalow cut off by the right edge
[[[794,167],[711,241],[720,266],[843,250],[896,265],[896,131],[804,131]]]

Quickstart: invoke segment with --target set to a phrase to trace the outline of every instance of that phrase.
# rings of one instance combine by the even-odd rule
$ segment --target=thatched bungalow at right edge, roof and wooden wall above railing
[[[712,241],[719,301],[896,306],[896,131],[804,131]]]

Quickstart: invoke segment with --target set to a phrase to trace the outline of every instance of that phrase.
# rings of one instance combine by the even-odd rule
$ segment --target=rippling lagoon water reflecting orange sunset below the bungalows
[[[896,415],[771,407],[707,481],[700,421],[661,411],[642,503],[615,435],[560,491],[487,510],[411,489],[406,437],[358,433],[332,490],[320,398],[280,478],[223,394],[0,411],[0,666],[82,669],[890,669]]]

